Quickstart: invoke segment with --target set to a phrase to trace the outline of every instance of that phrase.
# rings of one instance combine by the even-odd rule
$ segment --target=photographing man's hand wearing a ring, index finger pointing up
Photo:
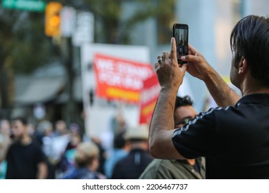
[[[171,39],[171,52],[163,52],[162,55],[157,56],[157,63],[155,63],[155,70],[159,79],[161,88],[166,90],[172,89],[177,92],[179,85],[183,81],[186,72],[186,65],[179,68],[177,63],[177,48],[175,38]]]

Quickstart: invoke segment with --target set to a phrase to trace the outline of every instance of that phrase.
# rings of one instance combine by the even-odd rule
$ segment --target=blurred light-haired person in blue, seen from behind
[[[82,142],[74,155],[75,167],[63,175],[63,179],[106,179],[97,172],[99,167],[99,148],[92,142]]]

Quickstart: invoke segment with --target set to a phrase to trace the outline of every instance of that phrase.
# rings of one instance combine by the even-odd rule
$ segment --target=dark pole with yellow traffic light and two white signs
[[[93,16],[88,12],[78,13],[73,1],[66,0],[63,4],[64,6],[57,2],[48,3],[45,32],[47,36],[57,37],[58,40],[59,57],[66,70],[66,94],[68,95],[63,114],[66,122],[71,123],[81,121],[74,101],[74,48],[80,48],[81,41],[83,43],[91,41],[89,37],[92,33],[90,33],[89,23],[93,23]]]

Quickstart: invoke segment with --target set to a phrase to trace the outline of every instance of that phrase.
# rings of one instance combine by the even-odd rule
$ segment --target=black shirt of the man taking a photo
[[[269,179],[269,94],[201,113],[172,141],[187,159],[206,157],[207,179]]]

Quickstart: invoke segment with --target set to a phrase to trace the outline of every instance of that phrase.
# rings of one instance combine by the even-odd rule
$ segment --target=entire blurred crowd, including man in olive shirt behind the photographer
[[[189,96],[177,96],[175,128],[197,114]],[[111,122],[111,139],[83,133],[77,123],[17,117],[0,121],[0,179],[204,179],[203,158],[153,159],[149,125]],[[100,134],[101,136],[101,134]]]

